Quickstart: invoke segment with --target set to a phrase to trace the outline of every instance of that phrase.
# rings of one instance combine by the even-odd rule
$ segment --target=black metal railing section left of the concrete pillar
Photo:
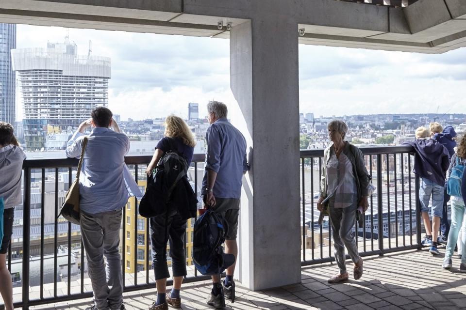
[[[198,173],[198,165],[200,163],[203,163],[205,158],[205,155],[194,155],[193,157],[193,162],[191,164],[191,170],[194,169],[194,188],[196,191],[196,195],[198,195],[198,184],[199,184],[199,173]],[[141,181],[142,179],[145,178],[145,169],[147,166],[147,163],[150,162],[151,156],[128,156],[125,158],[126,164],[130,167],[130,170],[133,170],[133,175],[136,180],[136,182]],[[22,210],[22,240],[19,242],[21,243],[20,248],[21,248],[21,254],[17,254],[17,257],[22,258],[22,271],[21,273],[13,277],[14,278],[14,283],[20,284],[22,287],[22,292],[21,292],[21,301],[17,301],[14,303],[15,308],[22,308],[22,309],[29,309],[31,306],[37,306],[37,305],[43,305],[43,304],[49,304],[49,303],[56,303],[56,302],[61,302],[61,301],[68,301],[68,300],[77,300],[77,299],[82,299],[82,298],[88,298],[92,297],[92,291],[88,287],[88,289],[85,289],[85,282],[87,277],[85,276],[85,261],[84,261],[84,248],[83,248],[83,243],[81,240],[81,235],[79,232],[79,226],[71,224],[69,222],[63,222],[63,219],[57,219],[58,217],[58,210],[61,207],[61,202],[59,203],[59,180],[60,180],[60,174],[67,174],[67,184],[68,187],[73,181],[73,173],[72,170],[73,168],[78,166],[78,160],[77,159],[72,159],[72,158],[63,158],[63,159],[33,159],[33,160],[25,160],[23,164],[23,191],[24,191],[24,199],[23,199],[23,210]],[[202,166],[203,167],[203,166]],[[30,292],[32,291],[30,289],[30,275],[33,270],[31,270],[31,244],[34,242],[34,240],[31,240],[31,225],[30,225],[30,220],[31,220],[31,189],[32,189],[32,175],[37,176],[36,178],[40,178],[40,183],[41,186],[40,188],[40,212],[34,212],[36,214],[40,214],[40,264],[38,266],[39,268],[39,273],[40,273],[40,279],[38,283],[38,290],[33,290],[38,292],[38,295],[36,295],[36,298],[32,298]],[[38,177],[40,175],[40,177]],[[45,216],[46,216],[46,210],[45,210],[45,197],[46,197],[46,175],[54,175],[54,230],[53,230],[53,237],[47,236],[44,234],[45,233]],[[141,175],[144,175],[144,178],[140,177]],[[202,174],[200,175],[202,177]],[[63,180],[62,180],[63,181]],[[66,189],[65,189],[66,190]],[[138,201],[136,198],[130,198],[130,202],[133,202],[131,212],[134,212],[133,214],[133,220],[134,220],[134,262],[133,267],[134,267],[134,272],[131,275],[131,279],[125,279],[129,278],[129,275],[126,272],[126,236],[122,235],[120,245],[121,245],[121,261],[122,261],[122,273],[123,273],[123,285],[124,285],[124,291],[129,292],[129,291],[136,291],[136,290],[141,290],[141,289],[149,289],[149,288],[155,288],[155,281],[153,277],[150,277],[150,271],[151,271],[151,255],[150,255],[150,234],[149,234],[149,221],[146,220],[146,227],[145,227],[145,234],[146,234],[146,239],[144,242],[145,246],[145,270],[144,271],[139,271],[137,268],[137,261],[140,261],[140,258],[137,257],[137,248],[140,246],[138,244],[138,225],[137,225],[137,218],[138,218],[138,211],[137,211],[137,205]],[[37,211],[33,209],[34,211]],[[122,220],[122,227],[123,227],[123,232],[125,232],[126,224],[127,224],[127,212],[130,212],[127,210],[127,207],[125,206],[123,208],[123,220]],[[63,226],[64,224],[67,225],[67,231],[66,233],[60,232],[59,235],[59,225]],[[14,238],[15,236],[13,236]],[[49,255],[47,255],[44,252],[44,246],[46,241],[50,241],[50,239],[53,239],[53,262],[50,262],[53,264],[53,281],[52,283],[45,283],[44,281],[44,268],[46,266],[46,260],[50,260],[47,258]],[[13,240],[12,240],[13,241]],[[72,262],[75,259],[75,256],[73,251],[72,251],[72,244],[80,244],[80,249],[81,249],[81,255],[80,257],[77,258],[77,262]],[[12,242],[13,244],[13,242]],[[8,251],[8,268],[11,271],[12,270],[12,244],[10,244],[10,248]],[[186,246],[185,246],[186,247]],[[59,253],[59,248],[64,248],[65,253]],[[51,256],[52,254],[50,254]],[[62,265],[59,265],[58,260],[61,257],[67,257],[66,263]],[[72,265],[80,265],[81,268],[78,269],[78,272],[74,275],[73,279],[73,272],[72,272]],[[63,283],[63,281],[60,281],[58,278],[60,274],[63,273],[62,269],[65,269],[66,273],[66,281]],[[73,267],[73,269],[76,269]],[[145,276],[141,277],[141,274],[145,272]],[[141,278],[143,278],[141,280]],[[16,281],[15,281],[16,279]],[[192,268],[190,270],[188,276],[185,277],[183,280],[184,282],[192,282],[192,281],[197,281],[197,280],[204,280],[204,279],[210,279],[210,277],[205,277],[202,275],[198,275],[197,270],[195,268]],[[79,282],[79,285],[76,285],[77,282]],[[129,284],[128,284],[129,283]],[[50,288],[50,284],[52,287]],[[63,285],[65,284],[65,285]],[[171,285],[172,281],[169,280],[167,281],[167,285]],[[47,290],[45,287],[48,286],[50,293],[47,293]],[[65,287],[64,287],[65,286]],[[3,308],[3,305],[0,305],[0,308]]]

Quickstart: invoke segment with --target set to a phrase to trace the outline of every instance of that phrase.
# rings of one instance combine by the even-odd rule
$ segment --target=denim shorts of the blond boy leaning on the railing
[[[432,195],[432,216],[442,218],[444,188],[445,186],[440,186],[429,179],[421,178],[419,187],[421,212],[429,212],[429,201]]]

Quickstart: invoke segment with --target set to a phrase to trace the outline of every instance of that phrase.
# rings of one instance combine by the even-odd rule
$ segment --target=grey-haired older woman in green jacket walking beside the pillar
[[[369,175],[364,164],[361,150],[345,141],[348,125],[333,120],[327,126],[332,144],[324,151],[324,162],[320,180],[320,197],[317,202],[319,211],[328,208],[333,230],[335,260],[340,273],[330,278],[329,283],[348,280],[345,263],[345,247],[354,263],[354,279],[363,275],[363,260],[352,233],[359,208],[366,211],[367,186]]]

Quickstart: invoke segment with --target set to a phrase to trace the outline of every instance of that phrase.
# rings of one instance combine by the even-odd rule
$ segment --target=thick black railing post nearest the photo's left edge
[[[31,168],[24,169],[24,199],[23,199],[23,270],[22,299],[23,310],[29,309],[29,251],[30,251],[30,219],[31,219]]]

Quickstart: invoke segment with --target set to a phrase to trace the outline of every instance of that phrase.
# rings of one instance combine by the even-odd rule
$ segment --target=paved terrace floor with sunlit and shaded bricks
[[[442,254],[433,257],[427,249],[405,251],[385,256],[367,257],[364,276],[344,284],[328,284],[327,279],[337,272],[334,263],[302,268],[300,284],[251,292],[238,283],[237,299],[230,309],[321,309],[321,310],[454,310],[466,308],[466,274],[459,272],[459,259],[453,268],[442,269]],[[455,253],[456,254],[456,253]],[[349,266],[352,268],[352,264]],[[182,291],[184,310],[210,309],[205,298],[209,282],[186,284]],[[148,309],[155,298],[153,290],[125,294],[126,309]],[[31,307],[31,309],[83,310],[90,299]]]

